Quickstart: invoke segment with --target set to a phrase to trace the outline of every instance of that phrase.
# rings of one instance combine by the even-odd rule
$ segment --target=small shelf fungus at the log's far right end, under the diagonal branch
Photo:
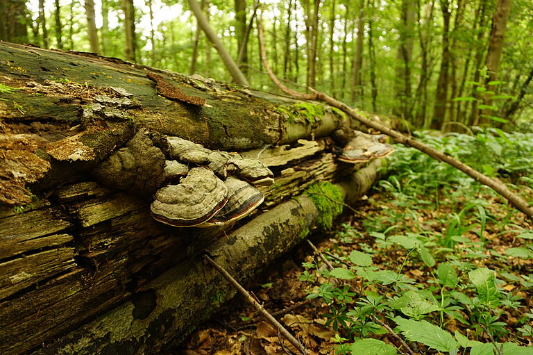
[[[355,164],[385,158],[394,151],[394,147],[385,142],[387,135],[384,134],[339,129],[333,133],[332,138],[341,146],[337,160],[345,163]]]

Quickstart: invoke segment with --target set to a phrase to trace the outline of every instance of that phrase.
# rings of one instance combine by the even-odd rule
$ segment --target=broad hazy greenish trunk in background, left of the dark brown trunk
[[[400,43],[396,64],[396,105],[393,113],[408,119],[411,116],[411,58],[413,55],[414,1],[402,1],[402,18],[399,28]]]

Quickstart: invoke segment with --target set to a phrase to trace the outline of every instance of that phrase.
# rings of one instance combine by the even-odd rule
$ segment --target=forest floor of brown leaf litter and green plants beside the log
[[[310,355],[533,354],[532,222],[406,152],[357,212],[312,236],[317,251],[301,243],[246,289]],[[175,354],[298,352],[237,296]]]

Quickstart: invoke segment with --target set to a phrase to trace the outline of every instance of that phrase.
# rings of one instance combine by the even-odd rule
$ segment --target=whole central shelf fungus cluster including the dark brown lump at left
[[[146,130],[137,132],[94,174],[105,185],[154,196],[152,217],[180,227],[239,220],[264,200],[255,185],[274,182],[259,160],[212,151],[183,138],[153,137]]]

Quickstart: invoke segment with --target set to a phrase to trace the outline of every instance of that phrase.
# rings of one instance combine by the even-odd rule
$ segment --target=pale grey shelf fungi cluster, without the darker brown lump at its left
[[[167,186],[155,193],[151,215],[171,226],[223,226],[248,215],[264,195],[254,185],[271,185],[272,172],[259,160],[211,151],[167,137]]]

